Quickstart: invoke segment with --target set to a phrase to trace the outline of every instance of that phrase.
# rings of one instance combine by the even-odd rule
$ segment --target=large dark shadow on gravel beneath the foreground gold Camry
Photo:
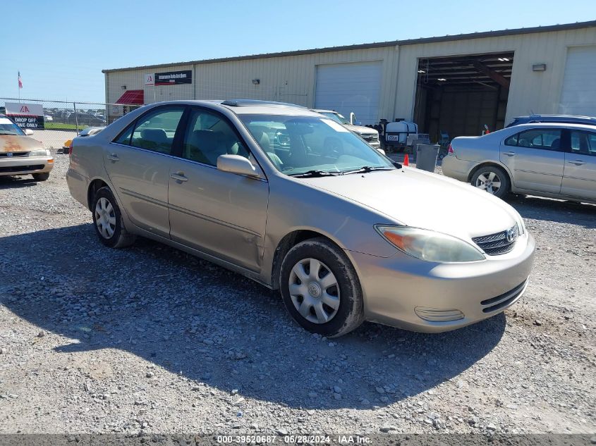
[[[91,224],[0,238],[0,267],[1,302],[67,337],[56,352],[122,349],[192,385],[288,407],[417,395],[485,357],[506,326],[504,314],[434,335],[365,323],[327,340],[293,323],[262,285],[150,240],[108,249]]]

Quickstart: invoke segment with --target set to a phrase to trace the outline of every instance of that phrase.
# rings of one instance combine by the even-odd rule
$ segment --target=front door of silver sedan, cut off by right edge
[[[570,149],[565,154],[561,194],[596,199],[596,132],[568,130]]]

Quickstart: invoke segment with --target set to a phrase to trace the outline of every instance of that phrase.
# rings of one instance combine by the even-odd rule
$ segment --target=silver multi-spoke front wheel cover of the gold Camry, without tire
[[[339,283],[327,265],[303,259],[293,266],[288,280],[298,313],[312,323],[327,323],[339,309]]]

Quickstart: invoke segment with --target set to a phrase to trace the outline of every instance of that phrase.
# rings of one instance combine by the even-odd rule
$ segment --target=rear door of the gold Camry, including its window
[[[104,150],[104,165],[130,221],[169,237],[168,178],[184,106],[140,116]]]

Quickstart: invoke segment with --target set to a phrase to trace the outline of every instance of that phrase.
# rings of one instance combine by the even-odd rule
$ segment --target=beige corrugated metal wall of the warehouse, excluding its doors
[[[406,44],[399,47],[351,49],[295,56],[255,58],[218,63],[144,68],[106,73],[107,101],[114,103],[126,89],[142,89],[143,74],[152,71],[193,70],[192,85],[145,87],[145,103],[173,99],[252,98],[314,106],[317,65],[382,61],[378,118],[412,119],[418,58],[515,51],[506,123],[518,115],[557,113],[563,85],[567,48],[596,44],[596,28],[537,32]],[[533,63],[546,63],[534,72]],[[258,79],[255,85],[253,79]]]

